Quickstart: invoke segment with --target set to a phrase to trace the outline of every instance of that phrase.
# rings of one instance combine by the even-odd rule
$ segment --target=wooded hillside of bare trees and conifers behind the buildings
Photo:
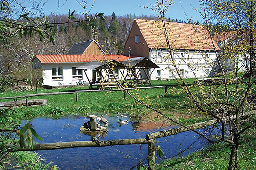
[[[86,17],[82,14],[74,13],[76,20],[83,21]],[[94,18],[95,14],[89,15],[89,19],[92,19],[91,26],[94,30],[94,37],[92,35],[91,26],[89,22],[74,22],[65,23],[68,21],[68,15],[59,14],[51,15],[47,17],[48,22],[52,23],[65,23],[54,24],[50,32],[55,34],[55,43],[51,43],[49,40],[44,39],[40,41],[40,37],[36,32],[28,33],[28,36],[20,38],[20,32],[17,31],[8,37],[1,37],[0,46],[0,63],[3,70],[10,70],[10,74],[13,78],[16,75],[24,75],[20,78],[27,78],[32,72],[31,60],[35,55],[46,54],[66,54],[74,43],[91,40],[97,38],[99,44],[107,54],[124,54],[124,45],[131,29],[133,20],[149,19],[157,20],[155,16],[135,14],[127,14],[124,16],[116,16],[113,12],[112,15],[104,16],[105,20],[100,18]],[[199,21],[183,21],[178,18],[167,18],[171,22],[179,23],[191,23],[202,24]],[[23,18],[20,22],[26,22]],[[219,30],[223,31],[223,26],[219,23],[211,23],[212,32]]]

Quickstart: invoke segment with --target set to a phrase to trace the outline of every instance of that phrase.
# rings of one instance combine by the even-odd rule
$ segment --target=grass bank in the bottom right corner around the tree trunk
[[[256,139],[255,129],[251,130],[240,141],[238,149],[238,169],[256,169]],[[157,170],[226,170],[228,167],[230,146],[227,143],[219,143],[212,148],[194,152],[187,157],[178,157],[162,161]]]

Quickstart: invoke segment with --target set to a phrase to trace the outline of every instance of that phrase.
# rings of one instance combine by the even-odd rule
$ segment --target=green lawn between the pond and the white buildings
[[[189,79],[190,82],[193,82],[194,79]],[[166,84],[175,84],[174,80],[171,81],[152,81],[153,86],[166,85]],[[177,83],[176,83],[177,84]],[[51,93],[51,92],[70,92],[75,90],[88,89],[85,87],[68,87],[68,88],[55,88],[55,89],[38,89],[38,93]],[[136,97],[143,99],[150,99],[149,104],[152,107],[157,109],[175,109],[177,111],[184,111],[186,107],[174,107],[177,102],[183,102],[183,96],[173,96],[171,94],[164,95],[164,88],[156,89],[143,89],[139,92],[135,90],[129,90],[132,94],[137,93]],[[147,93],[145,93],[147,92]],[[8,90],[6,92],[0,93],[1,97],[10,97],[10,96],[20,96],[25,94],[34,94],[35,90],[32,91],[12,91]],[[76,102],[75,94],[66,94],[66,95],[52,95],[52,96],[36,96],[29,97],[29,99],[44,99],[47,98],[47,106],[41,107],[23,107],[17,109],[18,112],[22,112],[25,119],[37,117],[37,116],[49,116],[52,108],[59,107],[63,109],[64,115],[76,115],[76,114],[86,114],[94,112],[128,112],[132,115],[144,114],[148,112],[144,106],[138,105],[134,99],[127,95],[127,98],[124,100],[124,92],[120,91],[111,91],[111,92],[81,92],[78,93],[79,101]],[[158,99],[157,96],[162,96]],[[1,100],[1,101],[14,101]]]

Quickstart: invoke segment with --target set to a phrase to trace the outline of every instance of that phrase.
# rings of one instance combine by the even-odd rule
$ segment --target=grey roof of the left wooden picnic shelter
[[[113,68],[125,68],[123,63],[120,63],[116,60],[108,60],[110,67]],[[108,64],[106,61],[92,61],[90,63],[86,63],[76,69],[108,69]]]

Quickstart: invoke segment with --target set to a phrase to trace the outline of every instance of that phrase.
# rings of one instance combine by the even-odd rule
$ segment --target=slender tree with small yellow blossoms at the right
[[[256,1],[255,0],[201,0],[202,10],[201,16],[203,16],[205,29],[207,29],[209,36],[212,40],[212,45],[215,49],[214,39],[212,38],[212,27],[209,19],[218,18],[223,26],[228,26],[234,31],[234,36],[231,38],[231,43],[228,43],[227,47],[223,49],[223,53],[218,54],[216,51],[217,64],[212,65],[213,69],[217,69],[222,77],[218,79],[220,85],[204,84],[196,77],[195,86],[188,85],[186,79],[184,79],[180,70],[175,63],[173,51],[177,49],[170,42],[172,34],[168,33],[167,25],[165,22],[165,14],[172,1],[157,1],[152,5],[151,10],[158,12],[158,21],[155,22],[155,26],[159,28],[162,34],[157,36],[164,36],[165,42],[159,42],[159,47],[165,47],[169,55],[164,58],[170,59],[171,63],[168,63],[168,69],[174,68],[175,77],[179,89],[174,91],[171,89],[169,93],[179,92],[181,95],[186,96],[186,104],[189,105],[193,112],[208,115],[209,118],[215,118],[219,124],[210,129],[216,129],[220,132],[219,137],[212,139],[205,136],[205,133],[198,133],[201,137],[204,137],[209,143],[217,144],[220,142],[226,142],[230,144],[231,152],[229,157],[228,170],[236,170],[238,168],[238,148],[239,141],[244,134],[248,132],[248,129],[256,127],[255,111],[253,116],[243,116],[245,112],[255,110],[255,105],[252,105],[250,98],[255,95],[255,27],[256,27]],[[153,24],[152,24],[153,25]],[[218,25],[217,25],[218,26]],[[201,50],[198,48],[197,50]],[[225,56],[223,56],[225,55]],[[246,59],[249,62],[245,73],[247,80],[242,78],[242,73],[237,67],[228,70],[222,64],[221,59],[226,57],[232,62],[238,62],[238,58]],[[200,69],[197,63],[191,60],[185,60],[180,58],[187,64],[188,68],[195,72],[196,69]],[[205,58],[204,58],[205,59]],[[205,60],[206,61],[206,60]],[[234,85],[232,85],[234,84]],[[143,104],[143,103],[141,103]],[[150,106],[144,104],[148,108]],[[167,119],[174,123],[179,124],[182,127],[186,127],[184,124],[174,121],[172,118],[164,115],[161,111],[151,108],[163,115]],[[189,109],[189,110],[190,110]],[[228,117],[228,120],[225,118]],[[186,127],[187,128],[187,127]],[[226,136],[228,133],[228,137]]]

